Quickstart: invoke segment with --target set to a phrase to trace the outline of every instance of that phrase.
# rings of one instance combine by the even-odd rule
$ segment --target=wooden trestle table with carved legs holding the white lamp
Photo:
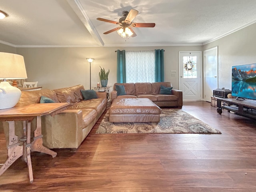
[[[0,110],[0,121],[6,121],[9,124],[9,144],[8,144],[8,158],[0,168],[0,175],[2,175],[20,156],[28,165],[28,173],[30,183],[33,182],[32,163],[30,158],[30,151],[43,152],[56,157],[57,153],[43,146],[42,130],[41,130],[41,116],[55,114],[63,111],[69,103],[36,103],[26,106],[14,106],[13,108]],[[34,138],[30,142],[31,122],[36,117],[36,130],[34,131]],[[23,121],[24,136],[18,138],[15,135],[15,121]],[[23,142],[23,146],[19,145],[19,141]]]

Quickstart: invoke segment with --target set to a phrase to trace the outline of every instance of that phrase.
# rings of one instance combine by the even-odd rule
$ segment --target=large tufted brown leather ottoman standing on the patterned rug
[[[110,122],[159,122],[161,109],[148,98],[115,98],[109,108]]]

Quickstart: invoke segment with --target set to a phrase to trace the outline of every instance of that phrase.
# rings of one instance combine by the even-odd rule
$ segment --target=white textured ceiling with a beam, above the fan
[[[122,11],[139,11],[125,39],[103,34]],[[1,0],[0,43],[15,47],[202,45],[256,22],[255,0]]]

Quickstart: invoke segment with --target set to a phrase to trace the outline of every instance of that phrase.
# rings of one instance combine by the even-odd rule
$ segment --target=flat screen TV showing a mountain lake
[[[232,66],[232,96],[256,100],[256,63]]]

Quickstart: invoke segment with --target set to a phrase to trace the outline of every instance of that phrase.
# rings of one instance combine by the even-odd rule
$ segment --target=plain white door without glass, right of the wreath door
[[[218,88],[218,47],[204,51],[204,98],[211,102],[213,90]]]

